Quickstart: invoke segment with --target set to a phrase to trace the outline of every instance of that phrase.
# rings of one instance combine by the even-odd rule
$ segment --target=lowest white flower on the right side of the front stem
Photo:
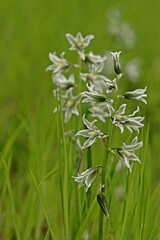
[[[137,142],[137,137],[135,137],[130,145],[126,145],[123,143],[123,146],[120,148],[117,148],[117,153],[120,157],[120,160],[124,162],[127,168],[129,168],[129,171],[131,172],[131,166],[130,161],[138,161],[140,163],[140,159],[135,155],[135,150],[142,147],[142,142]]]

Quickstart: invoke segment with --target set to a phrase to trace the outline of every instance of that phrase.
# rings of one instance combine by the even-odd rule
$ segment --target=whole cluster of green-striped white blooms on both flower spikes
[[[73,64],[64,58],[64,53],[60,54],[60,57],[55,52],[49,54],[52,64],[46,70],[52,72],[52,80],[55,84],[54,93],[58,102],[54,112],[62,111],[65,123],[71,119],[72,115],[79,117],[74,139],[77,139],[81,151],[91,148],[95,142],[102,140],[106,150],[113,153],[114,157],[124,163],[131,172],[131,161],[140,162],[135,151],[141,148],[143,143],[138,142],[138,136],[134,136],[131,144],[122,142],[119,147],[111,147],[108,145],[111,134],[109,126],[112,124],[113,128],[118,127],[119,134],[123,134],[126,129],[130,134],[133,132],[134,135],[135,133],[139,134],[140,129],[144,126],[144,117],[139,115],[139,106],[135,111],[128,113],[127,111],[130,109],[128,104],[130,101],[146,104],[147,87],[121,93],[120,85],[123,77],[120,63],[121,51],[110,53],[115,74],[113,79],[110,79],[104,71],[106,56],[96,55],[93,52],[86,53],[86,48],[94,38],[93,35],[83,37],[81,33],[78,33],[74,37],[68,33],[66,38],[71,44],[70,50],[78,53],[80,61],[79,64]],[[81,119],[83,127],[79,130]],[[103,124],[105,132],[98,127]],[[82,144],[80,143],[81,137],[86,138]],[[104,174],[102,162],[100,160],[99,166],[91,166],[82,173],[77,173],[77,176],[73,176],[75,182],[78,183],[78,188],[85,186],[88,191],[95,178]],[[105,178],[102,179],[104,181]],[[103,181],[100,182],[100,186],[104,186]],[[97,201],[104,214],[108,216],[106,197],[102,187],[100,189]]]

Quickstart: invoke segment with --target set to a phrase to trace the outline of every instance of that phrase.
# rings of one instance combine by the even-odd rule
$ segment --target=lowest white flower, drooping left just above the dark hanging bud
[[[78,174],[77,177],[73,177],[75,179],[75,182],[79,184],[78,188],[85,185],[87,192],[98,174],[98,168],[99,166],[88,168],[86,171],[82,172],[81,174]]]

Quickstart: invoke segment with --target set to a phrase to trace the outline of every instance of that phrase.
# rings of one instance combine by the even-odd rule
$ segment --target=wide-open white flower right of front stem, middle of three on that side
[[[108,107],[110,112],[110,116],[113,124],[116,127],[119,127],[121,133],[124,131],[124,126],[132,132],[132,130],[136,130],[139,133],[139,128],[144,125],[141,123],[144,120],[144,117],[134,117],[136,113],[139,112],[139,107],[137,107],[136,111],[134,111],[130,115],[124,115],[126,110],[126,104],[122,104],[117,111],[114,110],[112,106]]]

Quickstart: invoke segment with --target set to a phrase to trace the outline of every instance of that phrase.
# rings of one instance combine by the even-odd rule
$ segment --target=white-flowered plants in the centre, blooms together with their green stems
[[[111,52],[113,74],[108,77],[104,71],[106,56],[86,52],[94,38],[93,35],[83,37],[79,32],[74,37],[68,33],[66,38],[71,45],[69,50],[77,52],[77,62],[72,63],[66,58],[65,53],[57,56],[56,52],[53,52],[49,54],[52,64],[47,68],[47,71],[52,72],[55,86],[54,96],[57,106],[54,112],[59,115],[61,128],[59,144],[65,145],[65,139],[70,136],[72,148],[75,148],[76,152],[70,164],[67,162],[67,149],[63,148],[65,153],[62,155],[65,160],[64,164],[60,163],[63,168],[60,181],[68,187],[66,182],[69,180],[66,181],[66,176],[69,172],[67,167],[69,164],[72,169],[69,178],[78,183],[78,188],[85,187],[87,193],[84,194],[91,193],[94,183],[96,182],[95,186],[97,186],[98,182],[95,194],[102,213],[99,218],[99,240],[101,240],[103,239],[103,218],[104,216],[109,218],[109,214],[112,214],[107,206],[107,164],[110,159],[114,159],[117,164],[120,161],[122,166],[127,167],[126,171],[131,173],[133,163],[135,161],[140,163],[135,152],[143,146],[142,141],[138,140],[138,135],[144,126],[144,116],[140,116],[140,107],[142,103],[147,103],[147,87],[122,92],[124,74],[120,62],[121,51]],[[131,108],[130,111],[131,102],[134,102],[135,108]],[[122,135],[118,146],[117,142],[114,143],[113,131]],[[102,144],[98,143],[100,141]],[[106,152],[105,159],[99,158],[98,164],[97,161],[94,163],[91,156],[91,150],[97,147],[97,144],[102,148],[99,151]],[[86,155],[85,152],[87,152]],[[65,203],[67,190],[64,189],[61,192],[64,232],[67,236],[68,215]],[[78,208],[80,201],[77,204]],[[90,197],[88,197],[88,204],[91,204]]]

